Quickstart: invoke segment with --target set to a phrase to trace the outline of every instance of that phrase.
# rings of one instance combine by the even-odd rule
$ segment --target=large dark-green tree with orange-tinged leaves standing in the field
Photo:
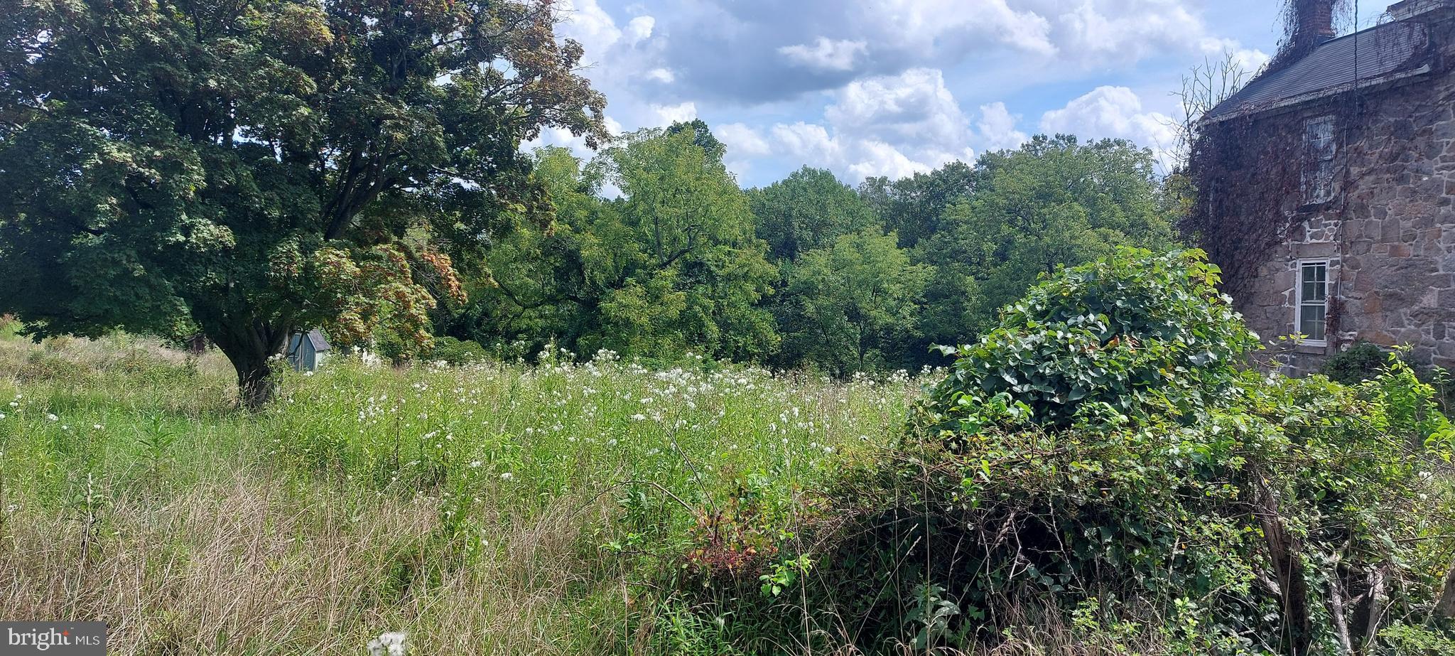
[[[428,340],[426,284],[595,145],[550,0],[19,0],[0,12],[0,313],[35,336],[201,330],[242,399],[287,336]]]

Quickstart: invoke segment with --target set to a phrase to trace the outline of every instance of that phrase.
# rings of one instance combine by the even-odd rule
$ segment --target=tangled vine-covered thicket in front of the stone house
[[[1451,653],[1435,391],[1397,358],[1353,385],[1247,371],[1218,273],[1125,250],[1039,284],[902,444],[682,607],[735,653]]]

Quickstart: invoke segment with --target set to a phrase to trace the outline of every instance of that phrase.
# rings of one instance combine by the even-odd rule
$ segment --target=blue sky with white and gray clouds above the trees
[[[1342,33],[1379,20],[1359,3]],[[1206,60],[1257,68],[1276,0],[562,0],[613,132],[701,118],[739,185],[800,166],[857,185],[1033,134],[1116,137],[1165,160],[1171,92]],[[549,129],[527,144],[592,153]]]

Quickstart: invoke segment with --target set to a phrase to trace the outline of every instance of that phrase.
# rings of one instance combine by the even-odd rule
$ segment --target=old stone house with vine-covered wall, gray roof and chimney
[[[1455,0],[1339,38],[1331,13],[1301,3],[1289,51],[1205,115],[1190,231],[1289,371],[1359,339],[1451,368]]]

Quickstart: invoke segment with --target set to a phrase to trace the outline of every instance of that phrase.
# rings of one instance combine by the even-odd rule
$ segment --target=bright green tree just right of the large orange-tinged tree
[[[706,127],[687,128],[627,135],[585,167],[565,150],[538,153],[556,223],[522,227],[493,249],[493,279],[480,285],[467,330],[554,337],[578,353],[773,352],[778,336],[761,301],[777,273],[720,147]],[[604,179],[626,196],[598,198]]]

